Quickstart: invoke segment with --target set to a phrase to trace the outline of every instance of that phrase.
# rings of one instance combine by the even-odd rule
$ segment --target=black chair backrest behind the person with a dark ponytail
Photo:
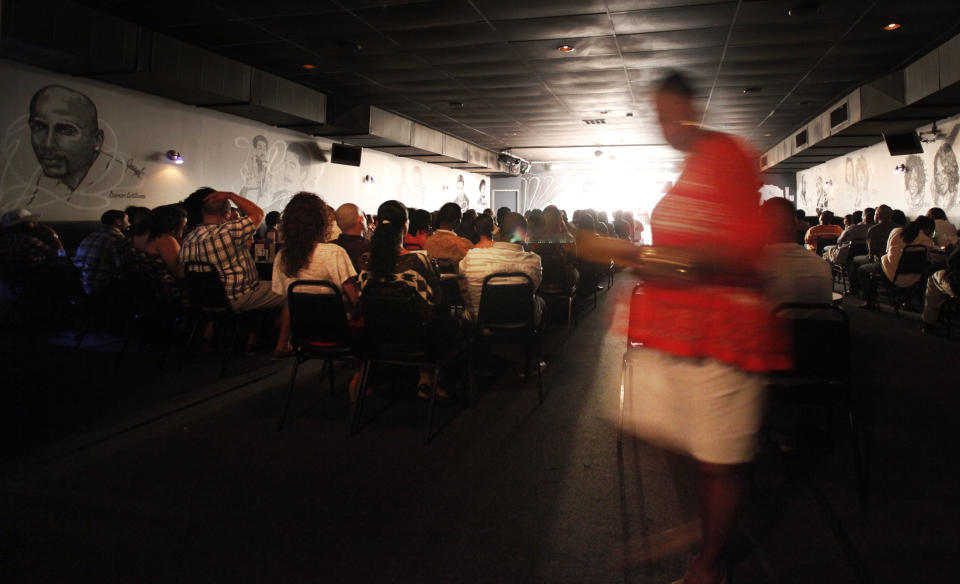
[[[378,353],[422,352],[427,342],[422,300],[401,282],[371,282],[360,294],[363,338]]]

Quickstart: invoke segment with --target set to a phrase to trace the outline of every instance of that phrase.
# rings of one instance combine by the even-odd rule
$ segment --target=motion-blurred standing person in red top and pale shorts
[[[756,157],[694,121],[693,93],[678,73],[656,93],[664,138],[687,156],[651,214],[653,248],[642,252],[630,319],[630,340],[643,348],[629,358],[642,372],[637,433],[689,455],[697,469],[702,548],[679,582],[715,584],[726,581],[724,550],[756,447],[761,372],[788,367],[789,357],[755,267],[770,239]]]

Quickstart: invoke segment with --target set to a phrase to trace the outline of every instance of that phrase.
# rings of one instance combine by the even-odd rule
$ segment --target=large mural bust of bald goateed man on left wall
[[[33,94],[28,113],[7,128],[0,204],[5,209],[102,209],[125,179],[133,183],[125,187],[136,189],[145,174],[118,151],[116,135],[93,100],[69,87],[47,85]]]

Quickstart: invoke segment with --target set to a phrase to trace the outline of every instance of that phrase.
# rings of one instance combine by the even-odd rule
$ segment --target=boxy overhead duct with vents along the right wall
[[[960,36],[905,69],[852,91],[767,150],[767,172],[798,171],[960,111]],[[798,140],[798,136],[806,140]]]

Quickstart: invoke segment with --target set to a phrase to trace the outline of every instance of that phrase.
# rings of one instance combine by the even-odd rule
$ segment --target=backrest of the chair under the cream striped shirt
[[[499,272],[483,279],[477,326],[481,329],[533,328],[533,280],[522,272]]]

